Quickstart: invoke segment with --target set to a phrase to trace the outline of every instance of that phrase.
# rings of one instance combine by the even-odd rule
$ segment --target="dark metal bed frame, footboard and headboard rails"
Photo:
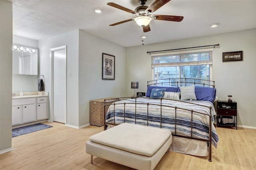
[[[203,85],[203,86],[207,85],[207,86],[215,87],[214,86],[214,81],[206,80],[206,81],[208,81],[208,83],[206,84],[206,83],[198,83],[198,82],[187,81],[187,80],[191,80],[191,79],[188,79],[188,78],[184,78],[184,79],[185,79],[185,81],[181,80],[181,81],[175,82],[175,83],[177,83],[177,85],[178,85],[178,83],[185,83],[185,85],[192,83],[192,84],[200,84],[200,85]],[[166,79],[164,79],[164,80],[166,80]],[[170,80],[173,80],[172,78],[168,78],[167,80],[169,80],[169,82],[167,82],[167,83],[169,83],[169,84],[173,83],[172,81],[170,81]],[[177,78],[175,78],[175,80],[177,80]],[[198,80],[198,79],[192,79],[192,80]],[[157,83],[157,82],[154,82],[154,81],[156,81],[156,80],[148,81],[148,86],[150,86],[150,85],[163,85],[162,82],[161,83]],[[150,82],[154,82],[154,83],[150,84]],[[129,98],[131,98],[131,97],[122,97],[122,98],[116,98],[116,99],[124,100],[124,99],[129,99]],[[172,108],[175,109],[175,129],[174,129],[175,133],[174,134],[172,133],[172,135],[176,136],[176,137],[183,137],[183,138],[187,138],[187,139],[194,139],[194,140],[198,140],[198,141],[207,142],[208,143],[208,153],[209,153],[208,161],[212,162],[212,115],[211,115],[212,107],[211,106],[208,107],[208,106],[204,106],[204,105],[200,105],[200,104],[195,104],[195,105],[207,107],[208,109],[210,109],[210,114],[208,115],[206,113],[194,111],[193,109],[190,110],[190,109],[184,109],[184,108],[176,107],[176,106],[162,105],[162,100],[170,100],[170,99],[162,99],[162,98],[160,98],[160,104],[150,104],[150,103],[145,104],[145,103],[137,102],[137,98],[139,98],[139,97],[135,97],[135,102],[120,103],[121,105],[124,105],[124,122],[125,122],[125,105],[126,104],[134,104],[135,105],[135,120],[134,120],[135,124],[136,124],[136,107],[137,107],[137,105],[138,104],[140,104],[140,105],[147,105],[147,126],[148,126],[148,107],[150,105],[154,105],[154,106],[160,106],[160,128],[162,128],[162,107],[172,107]],[[145,98],[145,97],[143,97],[143,98]],[[114,100],[114,99],[111,99],[111,100]],[[111,104],[106,104],[106,102],[108,102],[108,100],[105,99],[104,100],[104,130],[106,130],[106,125],[118,125],[117,123],[115,123],[115,106],[116,105],[120,105],[120,104],[116,104],[116,103],[112,104],[112,105],[114,105],[114,123],[108,123],[108,122],[106,122],[106,111],[107,111],[106,110],[106,106],[110,106]],[[190,102],[186,102],[186,101],[180,101],[180,102],[190,103]],[[194,103],[190,103],[190,104],[194,104]],[[177,112],[176,111],[177,111],[177,109],[182,109],[182,110],[186,110],[186,111],[190,111],[191,112],[191,132],[190,132],[190,136],[183,136],[183,135],[176,134],[176,116],[177,116]],[[204,114],[204,115],[208,115],[209,116],[209,134],[208,134],[209,136],[208,136],[208,140],[207,139],[200,139],[200,138],[192,137],[193,113],[199,113],[199,114]]]

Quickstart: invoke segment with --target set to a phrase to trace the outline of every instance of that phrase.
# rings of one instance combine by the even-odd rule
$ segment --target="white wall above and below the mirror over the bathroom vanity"
[[[13,35],[12,43],[14,45],[38,49],[38,40],[20,37],[18,35]],[[39,58],[40,55],[38,54],[38,61]],[[39,66],[40,64],[38,64]],[[37,81],[38,76],[36,75],[12,74],[12,92],[20,92],[20,89],[23,92],[37,91]]]

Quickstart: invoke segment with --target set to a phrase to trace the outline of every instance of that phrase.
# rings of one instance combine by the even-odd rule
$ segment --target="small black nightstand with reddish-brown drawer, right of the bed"
[[[235,101],[217,101],[217,127],[236,127],[237,130],[237,103]]]

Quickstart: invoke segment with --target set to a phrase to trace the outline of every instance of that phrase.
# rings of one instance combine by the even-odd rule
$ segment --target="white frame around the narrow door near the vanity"
[[[50,53],[50,58],[51,58],[51,111],[50,111],[50,122],[53,122],[53,107],[54,107],[54,96],[53,96],[53,53],[54,51],[58,51],[58,50],[62,50],[62,49],[65,49],[65,80],[64,80],[64,87],[65,87],[65,104],[66,104],[66,107],[65,107],[65,125],[67,124],[67,46],[64,45],[64,46],[61,46],[61,47],[56,47],[56,48],[52,48],[50,49],[51,50],[51,53]]]

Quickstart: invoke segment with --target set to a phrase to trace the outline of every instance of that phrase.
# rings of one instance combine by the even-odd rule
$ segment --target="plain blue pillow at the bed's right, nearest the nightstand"
[[[195,87],[196,100],[204,100],[214,103],[216,98],[216,88]]]

